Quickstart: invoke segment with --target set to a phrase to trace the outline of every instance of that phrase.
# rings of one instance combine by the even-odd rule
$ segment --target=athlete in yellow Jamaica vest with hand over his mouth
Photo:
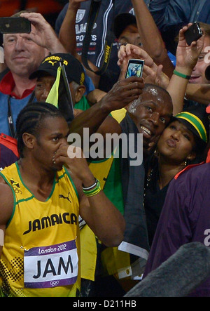
[[[0,176],[0,296],[79,296],[79,213],[107,246],[123,240],[125,221],[86,160],[68,157],[57,108],[28,105],[16,130],[20,160]]]

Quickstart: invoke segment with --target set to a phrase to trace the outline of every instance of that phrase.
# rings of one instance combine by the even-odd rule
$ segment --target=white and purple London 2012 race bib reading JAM
[[[68,286],[76,283],[78,253],[76,242],[34,247],[24,254],[24,283],[30,289]]]

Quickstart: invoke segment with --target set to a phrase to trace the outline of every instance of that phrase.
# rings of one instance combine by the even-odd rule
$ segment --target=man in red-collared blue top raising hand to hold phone
[[[34,99],[33,91],[36,79],[29,79],[30,74],[37,70],[43,58],[50,52],[65,52],[52,27],[45,22],[41,15],[37,14],[35,20],[41,20],[42,24],[36,23],[36,28],[32,24],[31,34],[35,33],[38,37],[38,33],[43,32],[47,38],[44,47],[42,43],[38,45],[31,41],[28,34],[3,35],[4,57],[10,72],[3,77],[0,83],[0,133],[12,137],[15,136],[15,121],[18,113]]]

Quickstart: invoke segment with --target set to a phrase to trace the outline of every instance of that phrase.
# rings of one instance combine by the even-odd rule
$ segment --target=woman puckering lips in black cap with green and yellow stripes
[[[144,207],[150,245],[171,180],[186,166],[205,160],[202,157],[208,140],[209,119],[201,107],[190,107],[177,114],[160,136],[155,153],[149,157],[146,174]]]

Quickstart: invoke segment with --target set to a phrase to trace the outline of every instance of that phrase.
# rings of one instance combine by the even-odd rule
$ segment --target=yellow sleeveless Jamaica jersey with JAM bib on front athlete
[[[45,202],[24,184],[17,162],[1,176],[13,191],[14,208],[0,260],[0,296],[79,296],[79,204],[69,173],[55,174]]]

